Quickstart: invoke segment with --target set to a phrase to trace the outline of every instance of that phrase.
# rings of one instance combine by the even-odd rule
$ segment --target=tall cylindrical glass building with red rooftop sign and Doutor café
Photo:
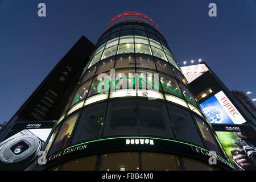
[[[136,12],[98,39],[45,151],[47,170],[233,169],[166,39]]]

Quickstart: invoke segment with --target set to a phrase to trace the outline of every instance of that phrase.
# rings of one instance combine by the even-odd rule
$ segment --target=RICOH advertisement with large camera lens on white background
[[[35,165],[53,126],[52,121],[15,123],[0,143],[0,170],[20,171]]]

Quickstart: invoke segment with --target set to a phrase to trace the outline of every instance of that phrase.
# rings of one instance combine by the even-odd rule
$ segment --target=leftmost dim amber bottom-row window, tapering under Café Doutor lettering
[[[86,156],[63,164],[61,171],[94,171],[97,155]]]

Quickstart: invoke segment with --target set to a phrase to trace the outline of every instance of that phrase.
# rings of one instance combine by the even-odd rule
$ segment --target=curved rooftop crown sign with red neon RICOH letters
[[[118,16],[116,16],[115,18],[110,20],[110,22],[107,24],[107,27],[113,26],[113,23],[117,24],[117,23],[121,23],[121,22],[125,22],[125,23],[142,23],[142,22],[144,22],[144,23],[150,24],[153,27],[158,28],[158,25],[151,18],[148,18],[148,16],[141,14],[141,13],[137,13],[137,12],[129,12],[129,13],[124,13],[124,14],[119,14]]]

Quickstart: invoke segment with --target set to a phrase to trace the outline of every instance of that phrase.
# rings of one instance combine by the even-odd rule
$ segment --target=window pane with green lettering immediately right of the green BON
[[[174,94],[174,96],[183,98],[179,85],[177,85],[177,81],[174,78],[163,73],[159,73],[159,78],[164,92],[171,93]]]

